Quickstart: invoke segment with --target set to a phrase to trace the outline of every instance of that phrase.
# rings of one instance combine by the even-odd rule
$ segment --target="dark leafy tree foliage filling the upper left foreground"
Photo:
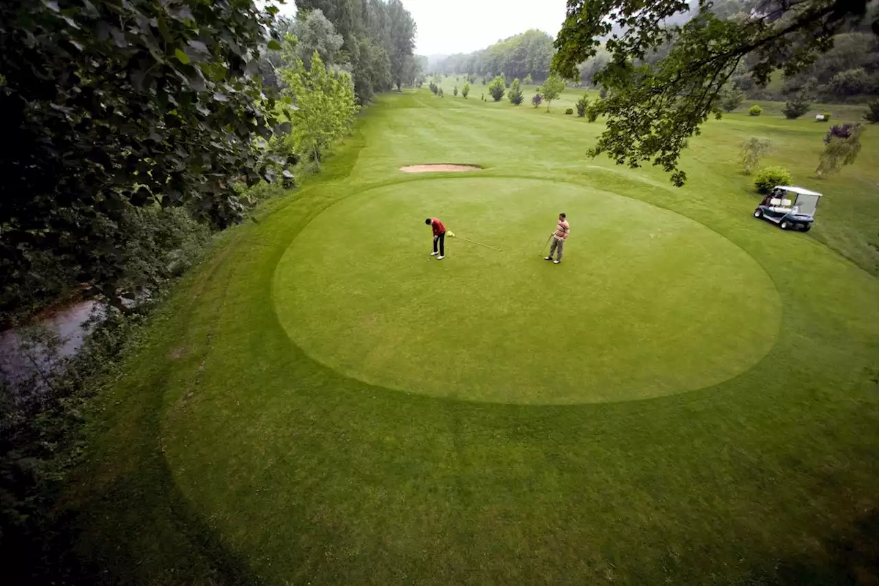
[[[286,129],[260,74],[281,48],[277,8],[61,4],[0,3],[0,136],[16,145],[0,157],[0,282],[50,252],[117,301],[127,210],[182,207],[222,228],[243,218],[236,182],[273,179],[256,139]]]

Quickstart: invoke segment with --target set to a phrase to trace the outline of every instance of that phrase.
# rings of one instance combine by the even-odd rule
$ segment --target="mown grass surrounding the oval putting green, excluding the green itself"
[[[93,417],[89,462],[63,509],[80,531],[84,563],[105,571],[96,580],[875,577],[875,133],[865,133],[853,168],[815,182],[809,174],[825,128],[730,115],[692,141],[683,162],[690,180],[674,189],[653,169],[584,160],[599,129],[472,94],[468,103],[450,92],[389,96],[367,111],[323,176],[229,234],[214,260],[180,285]],[[776,145],[766,163],[788,165],[797,184],[827,194],[808,235],[750,216],[755,197],[735,159],[753,134]],[[716,231],[710,238],[729,241],[719,250],[737,246],[771,279],[780,300],[774,346],[752,368],[707,388],[573,406],[404,394],[317,363],[280,324],[295,308],[276,305],[279,263],[290,262],[291,245],[291,254],[307,250],[297,237],[331,217],[323,212],[337,213],[335,204],[344,211],[352,196],[386,187],[399,197],[403,188],[434,194],[441,209],[454,205],[454,190],[434,185],[476,180],[396,172],[424,162],[483,165],[479,180],[505,191],[526,179],[585,190],[599,183],[701,223],[694,230]],[[336,225],[348,229],[355,230]],[[411,246],[423,253],[424,240],[419,231]],[[706,303],[710,291],[700,290],[693,304]],[[331,315],[324,319],[335,326]],[[743,323],[732,312],[730,336]]]

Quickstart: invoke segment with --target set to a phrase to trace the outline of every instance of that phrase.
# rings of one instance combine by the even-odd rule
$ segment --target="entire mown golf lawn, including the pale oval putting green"
[[[63,503],[84,565],[163,584],[875,578],[872,128],[816,181],[825,128],[731,114],[691,141],[682,189],[585,159],[600,128],[450,92],[367,110],[324,175],[185,279],[101,397]],[[809,234],[752,218],[752,135],[826,194]],[[397,171],[425,162],[484,169]],[[449,240],[428,260],[425,216],[503,252]]]

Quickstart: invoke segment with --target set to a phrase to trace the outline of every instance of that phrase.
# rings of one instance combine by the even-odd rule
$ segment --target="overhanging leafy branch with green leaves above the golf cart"
[[[700,0],[686,24],[665,26],[666,19],[689,9],[685,0],[570,0],[553,69],[576,77],[578,64],[596,54],[602,38],[612,55],[595,75],[611,92],[607,128],[590,156],[607,153],[631,167],[650,161],[683,185],[680,151],[709,115],[720,116],[717,94],[738,64],[747,58],[761,85],[777,69],[793,76],[831,48],[834,34],[864,18],[868,0],[771,1],[740,18],[719,18],[709,7]],[[625,28],[612,35],[618,23]],[[665,47],[665,56],[648,62],[652,51]]]

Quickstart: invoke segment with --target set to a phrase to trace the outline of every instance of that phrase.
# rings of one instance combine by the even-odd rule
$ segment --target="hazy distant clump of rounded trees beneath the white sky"
[[[552,43],[547,33],[532,29],[474,53],[450,55],[433,69],[445,75],[492,77],[504,74],[508,79],[525,79],[530,75],[542,81],[549,77],[549,65],[555,53]]]

